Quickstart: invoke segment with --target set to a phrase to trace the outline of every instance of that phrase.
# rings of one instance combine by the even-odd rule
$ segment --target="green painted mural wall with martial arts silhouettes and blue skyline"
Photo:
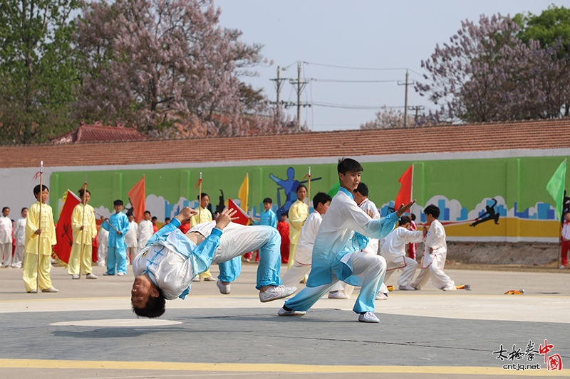
[[[421,223],[425,221],[423,208],[437,205],[448,240],[556,242],[559,222],[546,183],[564,158],[363,162],[362,181],[368,184],[369,198],[385,215],[400,189],[398,178],[414,164],[413,197],[418,203],[412,211]],[[208,193],[213,210],[227,198],[239,203],[237,191],[248,173],[249,213],[259,215],[266,197],[273,199],[276,212],[289,208],[296,200],[296,186],[306,182],[308,165],[90,171],[90,204],[109,215],[115,199],[128,203],[128,191],[144,174],[147,210],[162,222],[185,205],[197,206],[194,186],[200,171],[202,191]],[[53,171],[50,203],[59,203],[61,208],[64,191],[78,191],[85,175],[85,171]],[[338,181],[336,164],[311,164],[311,177],[311,197],[318,191],[328,192]],[[566,187],[568,183],[567,176]]]

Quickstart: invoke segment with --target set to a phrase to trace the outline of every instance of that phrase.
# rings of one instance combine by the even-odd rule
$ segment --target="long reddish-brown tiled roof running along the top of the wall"
[[[0,167],[37,166],[41,160],[52,167],[98,166],[569,147],[570,118],[66,146],[1,146]]]

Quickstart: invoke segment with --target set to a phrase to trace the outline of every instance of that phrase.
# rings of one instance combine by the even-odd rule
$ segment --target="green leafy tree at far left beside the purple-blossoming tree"
[[[78,84],[71,38],[78,0],[0,2],[0,144],[68,131]]]

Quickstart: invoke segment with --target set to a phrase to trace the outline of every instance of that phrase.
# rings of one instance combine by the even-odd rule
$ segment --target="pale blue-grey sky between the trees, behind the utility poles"
[[[301,123],[310,130],[358,129],[375,119],[383,105],[403,111],[405,73],[423,81],[421,61],[437,43],[446,43],[468,19],[480,15],[541,14],[549,5],[570,7],[570,0],[214,0],[222,9],[220,25],[243,32],[245,43],[260,43],[273,65],[257,67],[257,78],[243,78],[276,100],[277,66],[281,78],[308,83],[301,93]],[[285,80],[281,100],[296,102],[296,87]],[[408,87],[408,106],[435,110]],[[296,107],[286,110],[296,116]],[[413,113],[413,111],[410,111]]]

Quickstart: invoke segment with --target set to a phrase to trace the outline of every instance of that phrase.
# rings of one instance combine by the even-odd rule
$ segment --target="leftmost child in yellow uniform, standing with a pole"
[[[33,196],[38,201],[31,205],[28,210],[28,218],[26,218],[26,247],[22,274],[24,285],[28,293],[37,292],[36,278],[38,276],[39,252],[39,289],[41,292],[58,292],[58,289],[51,285],[49,276],[51,249],[53,245],[56,245],[57,239],[51,206],[46,204],[49,197],[48,187],[41,186],[41,190],[40,186],[34,187]]]

